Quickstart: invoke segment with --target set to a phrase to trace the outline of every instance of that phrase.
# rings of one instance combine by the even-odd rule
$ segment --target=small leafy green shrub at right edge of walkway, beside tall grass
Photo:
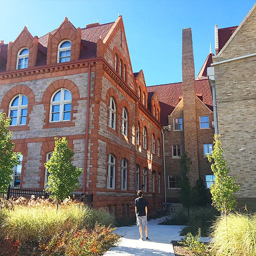
[[[208,248],[204,243],[200,242],[201,230],[198,228],[198,234],[193,236],[191,233],[188,233],[181,239],[181,242],[178,242],[186,246],[191,252],[196,256],[208,256]]]

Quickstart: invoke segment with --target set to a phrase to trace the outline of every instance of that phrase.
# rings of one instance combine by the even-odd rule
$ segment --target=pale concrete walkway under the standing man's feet
[[[148,221],[148,237],[151,241],[139,241],[137,226],[117,228],[115,232],[123,237],[118,247],[111,247],[104,256],[174,256],[171,241],[182,238],[179,231],[183,226],[158,225],[160,220]],[[144,228],[143,236],[145,239]]]

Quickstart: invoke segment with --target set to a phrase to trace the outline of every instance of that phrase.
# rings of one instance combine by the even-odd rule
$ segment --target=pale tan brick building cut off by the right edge
[[[256,4],[238,27],[215,26],[215,50],[208,70],[215,122],[230,174],[241,184],[238,206],[256,210]]]

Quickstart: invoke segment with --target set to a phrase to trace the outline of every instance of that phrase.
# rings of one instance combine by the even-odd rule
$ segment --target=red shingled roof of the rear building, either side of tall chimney
[[[202,102],[213,111],[211,89],[208,79],[196,80],[195,87],[196,94],[200,95]],[[173,112],[174,108],[176,108],[179,103],[179,98],[183,96],[182,82],[149,86],[147,90],[148,92],[158,92],[161,108],[160,121],[162,125],[168,125],[168,115]]]

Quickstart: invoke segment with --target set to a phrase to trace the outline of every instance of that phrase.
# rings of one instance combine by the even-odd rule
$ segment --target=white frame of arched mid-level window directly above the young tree
[[[60,91],[60,100],[54,101],[55,95]],[[72,94],[70,93],[71,99],[70,100],[65,100],[65,91],[70,91],[66,88],[61,88],[58,89],[57,91],[54,92],[54,94],[51,97],[51,102],[50,102],[50,119],[49,122],[69,122],[71,121],[71,112],[72,112]],[[65,111],[64,107],[65,105],[70,104],[70,111]],[[53,106],[59,105],[59,112],[53,112]],[[70,119],[64,120],[64,114],[70,112]],[[59,113],[59,120],[58,121],[52,121],[53,114],[54,113]]]

